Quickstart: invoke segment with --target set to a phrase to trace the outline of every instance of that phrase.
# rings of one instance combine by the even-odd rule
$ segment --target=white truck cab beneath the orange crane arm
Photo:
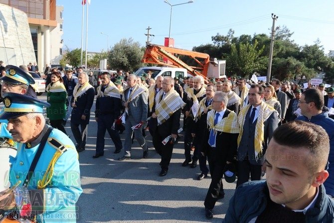
[[[184,68],[174,68],[174,67],[158,67],[158,66],[147,66],[139,68],[134,74],[137,76],[143,76],[149,71],[152,72],[151,78],[157,79],[158,76],[170,76],[172,78],[177,77],[178,79],[187,76],[187,70]]]

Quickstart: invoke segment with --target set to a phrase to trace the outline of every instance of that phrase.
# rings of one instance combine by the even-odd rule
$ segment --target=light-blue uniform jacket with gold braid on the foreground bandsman
[[[4,126],[2,123],[0,135],[6,135]],[[45,125],[43,132],[47,127]],[[11,187],[18,181],[23,184],[42,135],[31,143],[18,143],[16,157],[9,157]],[[57,147],[62,146],[66,151],[55,162],[50,183],[44,189],[37,189],[38,181],[42,180]],[[50,133],[27,189],[37,222],[76,222],[75,204],[82,193],[78,153],[73,142],[61,131],[53,129]]]

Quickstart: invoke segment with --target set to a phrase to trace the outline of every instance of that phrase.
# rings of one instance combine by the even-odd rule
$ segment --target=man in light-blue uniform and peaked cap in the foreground
[[[29,191],[31,218],[36,222],[76,222],[75,204],[82,193],[78,154],[73,142],[61,131],[45,124],[43,107],[50,104],[16,94],[3,95],[6,129],[0,134],[18,143],[16,157],[9,157],[11,187]],[[8,132],[9,131],[9,132]],[[28,174],[28,172],[32,172]]]

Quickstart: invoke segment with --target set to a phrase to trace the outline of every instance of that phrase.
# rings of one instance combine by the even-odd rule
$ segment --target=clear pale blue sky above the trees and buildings
[[[82,0],[57,0],[64,6],[64,48],[81,48]],[[270,34],[272,13],[278,16],[275,27],[286,25],[294,32],[291,39],[300,46],[312,45],[319,38],[325,54],[334,50],[334,0],[91,0],[88,7],[87,51],[106,51],[121,39],[132,38],[145,46],[147,28],[150,42],[164,45],[170,37],[174,47],[191,50],[193,46],[213,43],[212,36],[255,33]],[[180,4],[180,5],[175,5]],[[83,49],[86,49],[86,9],[84,8]],[[101,34],[103,32],[104,34]]]

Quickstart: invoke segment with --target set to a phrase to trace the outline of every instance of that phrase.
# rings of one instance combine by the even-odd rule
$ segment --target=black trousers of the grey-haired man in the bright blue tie
[[[204,207],[208,209],[214,208],[219,192],[223,190],[222,177],[224,175],[224,167],[226,165],[226,159],[219,156],[214,150],[216,150],[216,148],[210,149],[207,153],[211,183],[205,197]]]

